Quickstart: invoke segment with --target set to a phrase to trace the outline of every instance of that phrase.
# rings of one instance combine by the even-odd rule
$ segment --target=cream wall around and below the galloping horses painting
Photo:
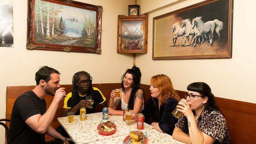
[[[146,1],[138,0],[137,3]],[[136,64],[142,71],[142,83],[150,84],[151,76],[166,74],[178,90],[185,91],[188,84],[202,81],[210,85],[217,97],[256,103],[255,1],[234,0],[231,59],[152,60],[153,17],[200,1],[186,0],[149,14],[148,53],[136,55]],[[166,4],[166,1],[151,1],[145,12],[157,9],[155,5],[159,4]]]

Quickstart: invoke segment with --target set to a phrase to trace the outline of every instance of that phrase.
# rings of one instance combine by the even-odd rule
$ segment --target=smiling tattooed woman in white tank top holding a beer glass
[[[144,108],[144,91],[140,88],[141,72],[136,66],[126,70],[122,76],[120,97],[116,97],[114,90],[110,93],[109,115],[123,115],[123,111],[115,110],[121,102],[121,109],[129,109],[132,113],[139,113]]]

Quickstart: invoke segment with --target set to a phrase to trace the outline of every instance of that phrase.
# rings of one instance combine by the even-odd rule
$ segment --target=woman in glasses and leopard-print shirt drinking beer
[[[215,103],[209,85],[191,83],[187,90],[187,102],[179,102],[177,106],[183,115],[175,125],[172,138],[188,144],[229,143],[226,120]]]

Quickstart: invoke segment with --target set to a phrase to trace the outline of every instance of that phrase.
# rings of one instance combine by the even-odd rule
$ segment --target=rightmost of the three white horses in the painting
[[[207,34],[208,37],[210,38],[210,44],[209,45],[211,45],[211,42],[212,42],[213,32],[212,32],[212,29],[211,29],[211,25],[209,23],[203,23],[201,18],[202,17],[200,16],[200,17],[193,18],[193,20],[192,20],[192,28],[193,29],[195,28],[195,37],[191,41],[191,44],[192,44],[195,40],[195,44],[192,47],[195,47],[197,37],[205,35],[205,34]],[[202,40],[202,42],[203,42],[203,40]]]

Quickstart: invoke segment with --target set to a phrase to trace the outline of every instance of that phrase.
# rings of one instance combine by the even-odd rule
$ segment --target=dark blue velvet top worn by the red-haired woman
[[[175,124],[178,119],[172,115],[172,111],[176,108],[178,102],[174,98],[170,98],[165,104],[160,106],[158,109],[158,100],[153,98],[156,103],[152,100],[152,97],[148,99],[144,109],[140,112],[145,117],[145,122],[152,117],[152,121],[158,123],[159,128],[167,134],[172,135]]]

